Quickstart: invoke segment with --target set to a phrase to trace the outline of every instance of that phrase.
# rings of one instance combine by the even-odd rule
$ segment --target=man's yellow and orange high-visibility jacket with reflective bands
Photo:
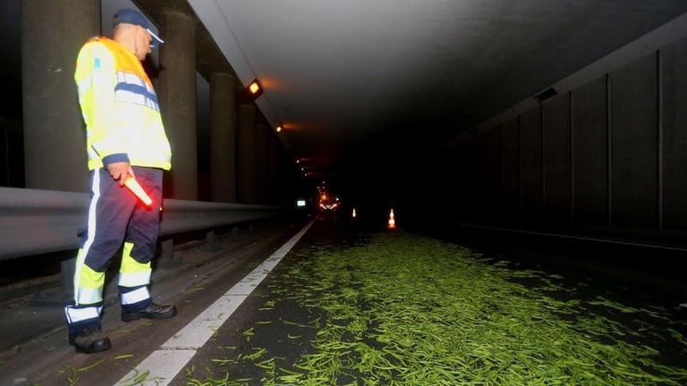
[[[152,82],[139,59],[109,38],[79,52],[74,80],[86,122],[89,170],[114,162],[169,170],[172,151]]]

